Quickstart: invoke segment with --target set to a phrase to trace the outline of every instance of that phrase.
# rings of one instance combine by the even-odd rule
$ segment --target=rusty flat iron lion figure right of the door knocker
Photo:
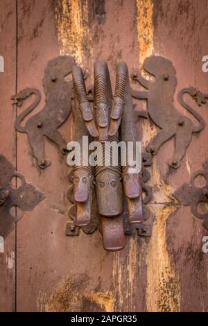
[[[138,111],[140,117],[148,117],[162,130],[150,141],[146,151],[157,154],[160,146],[165,141],[175,137],[175,153],[168,165],[177,169],[180,161],[185,155],[186,149],[191,142],[193,132],[200,132],[205,128],[205,121],[200,114],[193,110],[189,104],[184,101],[184,94],[189,94],[196,100],[198,105],[206,103],[207,95],[201,94],[198,89],[193,87],[182,89],[177,98],[193,117],[198,121],[198,125],[191,119],[181,114],[173,104],[173,96],[177,85],[176,71],[170,60],[160,56],[150,56],[144,60],[144,69],[155,77],[154,81],[147,80],[139,71],[131,75],[133,80],[146,88],[144,91],[132,89],[132,96],[139,99],[147,99],[148,111]]]

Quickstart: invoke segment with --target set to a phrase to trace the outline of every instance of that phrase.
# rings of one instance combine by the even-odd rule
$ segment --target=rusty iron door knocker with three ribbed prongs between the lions
[[[85,80],[80,67],[72,69],[75,98],[75,134],[74,139],[88,134],[104,145],[106,141],[136,141],[135,116],[130,92],[128,69],[124,62],[116,68],[116,87],[112,96],[110,74],[105,61],[98,61],[94,66],[94,108],[87,97]],[[82,118],[82,121],[80,119]],[[119,128],[121,129],[119,131]],[[121,135],[121,136],[120,136]],[[103,156],[105,159],[105,156]],[[70,173],[73,187],[69,189],[69,200],[73,206],[69,216],[67,233],[78,234],[77,227],[84,232],[94,232],[99,228],[103,234],[103,246],[106,250],[121,250],[125,245],[123,218],[123,189],[127,199],[128,223],[139,228],[143,222],[141,173],[136,173],[131,166],[98,166],[94,169],[76,166]],[[75,181],[74,181],[75,180]],[[83,181],[85,180],[85,187]],[[92,180],[94,182],[92,182]],[[92,196],[96,194],[96,207]],[[80,209],[82,207],[82,209]],[[96,212],[99,218],[93,218]],[[85,218],[83,218],[85,216]],[[91,218],[90,218],[91,216]],[[100,225],[101,219],[101,225]],[[83,223],[84,220],[84,223]],[[97,222],[95,221],[97,220]]]

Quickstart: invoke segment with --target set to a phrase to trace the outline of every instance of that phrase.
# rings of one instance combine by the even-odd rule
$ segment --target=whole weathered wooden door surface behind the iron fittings
[[[208,310],[208,254],[202,252],[207,232],[190,207],[180,206],[172,196],[207,159],[207,106],[194,104],[206,126],[193,135],[179,169],[170,171],[167,165],[173,139],[153,157],[148,181],[153,189],[148,205],[155,214],[151,237],[135,233],[123,250],[107,252],[99,232],[65,236],[66,158],[46,141],[52,164],[43,171],[37,168],[26,134],[14,128],[25,107],[15,108],[10,101],[20,89],[35,87],[43,95],[35,112],[40,110],[44,68],[60,54],[73,55],[89,71],[89,83],[96,59],[107,60],[114,80],[118,60],[132,71],[149,55],[161,55],[175,66],[175,94],[189,85],[206,93],[202,57],[208,55],[207,10],[207,0],[1,0],[0,153],[45,199],[24,213],[4,243],[0,311]],[[135,103],[146,108],[146,101]],[[175,106],[189,117],[177,96]],[[72,124],[69,118],[60,128],[67,141]],[[138,128],[145,146],[157,127],[139,119]]]

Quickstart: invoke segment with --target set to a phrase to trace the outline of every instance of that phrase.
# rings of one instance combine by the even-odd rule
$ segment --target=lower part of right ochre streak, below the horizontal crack
[[[146,257],[146,306],[148,311],[180,311],[180,282],[166,246],[166,221],[175,206],[155,210],[157,219]]]

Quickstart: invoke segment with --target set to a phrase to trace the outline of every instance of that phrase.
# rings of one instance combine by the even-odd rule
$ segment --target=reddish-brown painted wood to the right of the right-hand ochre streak
[[[206,0],[154,1],[155,53],[172,60],[177,71],[177,92],[189,85],[207,92],[208,75],[202,72],[202,56],[208,53],[207,6]],[[177,102],[177,92],[176,107],[189,117]],[[171,171],[165,164],[173,151],[172,140],[161,148],[156,158],[160,177],[173,189],[189,182],[191,175],[207,160],[207,105],[199,108],[193,100],[189,104],[205,119],[205,129],[193,135],[177,171]],[[180,289],[180,311],[208,309],[208,257],[202,252],[202,237],[206,233],[189,207],[180,207],[166,220],[166,246]]]

